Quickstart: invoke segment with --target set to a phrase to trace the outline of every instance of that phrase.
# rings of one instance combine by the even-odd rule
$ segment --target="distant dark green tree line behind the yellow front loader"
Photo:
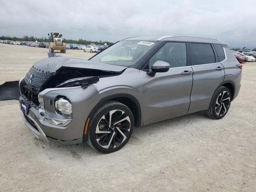
[[[41,37],[41,38],[37,38],[34,36],[23,36],[23,37],[10,37],[10,36],[0,36],[1,40],[12,40],[12,41],[38,41],[38,42],[49,42],[49,38],[46,37]],[[79,39],[79,40],[73,40],[73,39],[65,39],[63,38],[63,42],[65,43],[75,43],[75,44],[91,44],[94,43],[96,45],[100,44],[100,45],[104,45],[105,43],[107,45],[112,45],[114,44],[113,42],[108,42],[108,41],[91,41],[91,40],[83,40],[83,39]]]

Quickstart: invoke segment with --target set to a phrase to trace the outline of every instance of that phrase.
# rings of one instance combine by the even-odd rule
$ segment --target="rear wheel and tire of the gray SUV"
[[[227,114],[230,103],[230,90],[227,87],[221,86],[212,96],[210,106],[205,111],[206,115],[212,119],[221,119]]]

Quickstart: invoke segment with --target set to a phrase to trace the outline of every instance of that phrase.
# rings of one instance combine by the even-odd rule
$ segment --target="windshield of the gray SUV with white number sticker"
[[[110,46],[91,60],[112,65],[131,66],[144,56],[156,42],[120,41]]]

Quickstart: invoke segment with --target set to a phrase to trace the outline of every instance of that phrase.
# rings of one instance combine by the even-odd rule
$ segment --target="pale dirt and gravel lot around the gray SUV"
[[[47,51],[0,44],[0,84],[22,78]],[[18,101],[0,101],[0,191],[255,192],[254,71],[255,62],[244,64],[240,94],[225,118],[198,112],[135,128],[112,154],[37,140],[22,122]]]

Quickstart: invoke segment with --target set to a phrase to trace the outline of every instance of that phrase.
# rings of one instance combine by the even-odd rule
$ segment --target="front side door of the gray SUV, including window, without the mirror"
[[[187,66],[186,43],[164,44],[149,60],[149,70],[157,60],[168,62],[170,70],[156,73],[154,77],[148,76],[144,71],[140,72],[148,79],[142,86],[144,124],[175,114],[186,114],[190,105],[193,72],[191,66]]]

